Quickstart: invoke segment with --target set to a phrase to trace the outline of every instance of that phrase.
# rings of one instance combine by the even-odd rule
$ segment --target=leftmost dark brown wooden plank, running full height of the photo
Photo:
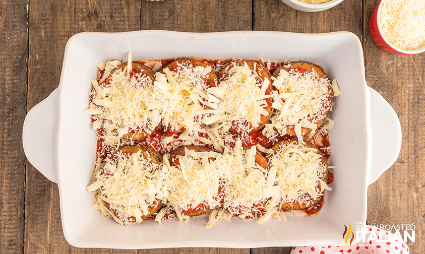
[[[28,1],[0,2],[0,253],[24,248]]]

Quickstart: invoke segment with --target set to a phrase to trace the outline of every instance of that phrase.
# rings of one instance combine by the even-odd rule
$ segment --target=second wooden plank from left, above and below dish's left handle
[[[119,11],[117,11],[119,10]],[[45,1],[29,4],[28,108],[59,84],[65,45],[82,31],[140,29],[140,1]],[[65,240],[60,221],[57,184],[29,163],[25,193],[25,253],[104,253],[75,248]],[[114,250],[137,253],[137,250]]]

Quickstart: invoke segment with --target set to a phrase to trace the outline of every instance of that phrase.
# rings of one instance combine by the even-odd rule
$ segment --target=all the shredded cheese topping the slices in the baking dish
[[[279,204],[310,202],[323,196],[323,190],[331,190],[322,180],[327,163],[322,162],[317,149],[307,147],[301,139],[301,128],[316,130],[314,122],[326,117],[324,112],[331,108],[328,79],[319,79],[314,71],[301,75],[281,70],[272,78],[279,91],[266,95],[270,81],[263,81],[256,68],[251,69],[246,62],[229,67],[228,76],[217,87],[208,87],[206,79],[224,63],[216,65],[217,70],[178,63],[175,70],[156,73],[152,81],[147,75],[131,72],[132,62],[129,54],[124,63],[98,63],[104,73],[98,81],[92,80],[91,103],[85,110],[92,115],[98,139],[106,144],[98,150],[98,157],[112,155],[99,157],[93,183],[87,186],[94,195],[93,207],[103,217],[122,225],[139,223],[147,215],[158,223],[174,217],[183,221],[190,218],[188,211],[202,205],[212,210],[207,225],[233,216],[254,218],[262,224],[270,218],[286,220]],[[112,72],[122,64],[126,65],[123,69]],[[162,64],[155,61],[152,66],[158,70]],[[339,95],[336,80],[332,90]],[[265,99],[272,97],[276,112],[262,134],[277,142],[279,135],[286,134],[286,125],[293,125],[300,145],[288,144],[276,153],[260,144],[242,147],[241,140],[245,142],[250,136],[242,132],[235,140],[228,132],[232,121],[258,126],[261,116],[268,114]],[[122,145],[134,145],[134,141],[123,139],[131,130],[151,130],[161,121],[171,131],[185,129],[157,144],[167,152],[162,164],[153,163],[141,152],[116,152]],[[326,134],[333,123],[328,119],[308,137]],[[204,124],[208,126],[202,128]],[[168,152],[188,145],[210,145],[220,153],[185,148],[185,154],[177,155],[178,163],[173,165]],[[268,153],[270,168],[256,161],[257,150]],[[150,214],[158,202],[163,205],[161,210]]]

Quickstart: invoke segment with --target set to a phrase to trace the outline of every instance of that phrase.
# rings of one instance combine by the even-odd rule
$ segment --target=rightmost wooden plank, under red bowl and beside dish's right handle
[[[366,5],[366,81],[398,114],[402,143],[394,165],[369,186],[367,222],[414,223],[410,251],[425,253],[425,54],[391,54],[375,45],[369,18],[377,3]]]

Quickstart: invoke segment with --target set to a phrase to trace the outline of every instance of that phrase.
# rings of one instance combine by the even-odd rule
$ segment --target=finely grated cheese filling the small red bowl
[[[378,18],[394,46],[411,50],[425,45],[425,1],[385,0]]]

